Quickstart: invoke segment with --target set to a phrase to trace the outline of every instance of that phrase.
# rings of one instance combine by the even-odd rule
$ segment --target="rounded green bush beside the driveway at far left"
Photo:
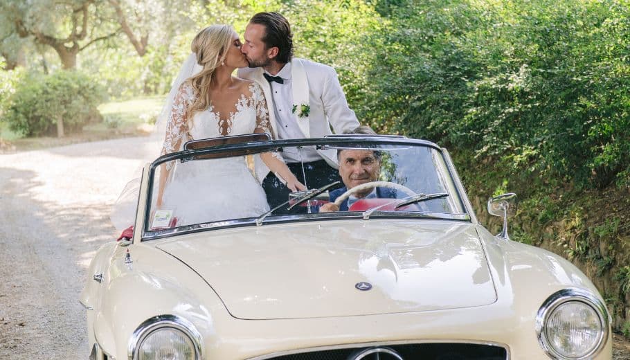
[[[17,84],[3,120],[23,136],[57,134],[58,120],[63,121],[64,132],[80,132],[102,118],[96,107],[104,100],[105,91],[77,71],[29,73]]]

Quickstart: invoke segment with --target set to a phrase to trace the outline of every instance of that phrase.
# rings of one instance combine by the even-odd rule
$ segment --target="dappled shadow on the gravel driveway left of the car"
[[[0,359],[87,359],[78,298],[91,254],[113,239],[109,206],[37,200],[43,186],[0,167]]]

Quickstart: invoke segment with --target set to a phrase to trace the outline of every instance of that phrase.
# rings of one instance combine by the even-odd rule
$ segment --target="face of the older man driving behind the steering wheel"
[[[371,150],[341,150],[339,152],[339,174],[345,187],[350,189],[362,183],[377,181],[381,172],[381,162]],[[355,192],[354,196],[364,197],[371,188]]]

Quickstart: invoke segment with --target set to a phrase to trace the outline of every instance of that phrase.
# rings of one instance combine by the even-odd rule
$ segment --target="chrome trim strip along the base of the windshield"
[[[304,215],[280,215],[267,217],[264,224],[284,224],[286,222],[316,222],[323,219],[332,220],[348,220],[363,219],[362,211],[348,211],[342,213],[317,213],[310,214],[309,217]],[[436,220],[455,220],[469,222],[468,214],[447,214],[447,213],[420,213],[406,211],[375,211],[370,215],[370,219],[436,219]],[[369,221],[369,220],[366,220]],[[188,226],[180,226],[178,228],[168,228],[160,231],[146,231],[142,237],[142,241],[163,239],[175,235],[183,235],[188,233],[199,233],[201,231],[215,230],[220,228],[235,228],[244,226],[256,226],[255,218],[236,219],[224,222],[209,222],[206,224],[195,224]]]

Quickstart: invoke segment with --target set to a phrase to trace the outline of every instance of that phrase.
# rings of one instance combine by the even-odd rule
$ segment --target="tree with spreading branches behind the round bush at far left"
[[[95,42],[116,35],[96,0],[3,1],[0,12],[14,26],[19,37],[32,37],[51,46],[64,69],[74,69],[77,55]],[[109,30],[108,33],[104,33]]]

